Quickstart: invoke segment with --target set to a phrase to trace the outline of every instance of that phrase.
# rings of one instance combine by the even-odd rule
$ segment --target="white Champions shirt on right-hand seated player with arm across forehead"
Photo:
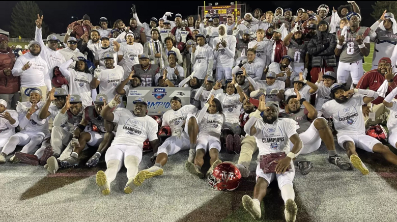
[[[343,134],[364,134],[365,125],[362,116],[364,95],[354,94],[345,103],[337,103],[335,100],[326,102],[322,111],[325,118],[332,117],[337,136]]]

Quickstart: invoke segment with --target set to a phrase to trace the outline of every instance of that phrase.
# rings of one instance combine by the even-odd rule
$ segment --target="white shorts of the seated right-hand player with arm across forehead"
[[[365,150],[366,152],[373,153],[374,151],[372,150],[375,146],[375,144],[381,143],[378,141],[376,138],[371,137],[369,135],[365,134],[344,134],[338,136],[338,144],[341,146],[343,149],[343,144],[345,142],[351,141],[353,144],[362,150]]]

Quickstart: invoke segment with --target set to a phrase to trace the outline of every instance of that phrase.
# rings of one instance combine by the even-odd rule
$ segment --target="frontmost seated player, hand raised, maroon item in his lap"
[[[263,119],[261,117],[262,112]],[[292,159],[302,149],[303,144],[298,133],[296,133],[296,122],[287,118],[278,119],[278,112],[278,105],[274,102],[269,102],[265,105],[265,96],[262,95],[257,111],[244,126],[244,131],[248,135],[255,137],[260,157],[274,155],[274,153],[280,151],[284,151],[288,155],[275,161],[277,163],[275,169],[266,171],[266,173],[264,167],[262,167],[263,169],[261,168],[262,163],[265,162],[259,163],[257,166],[257,184],[253,189],[253,199],[248,195],[244,195],[242,201],[244,208],[253,218],[261,218],[261,201],[266,196],[267,187],[276,178],[278,187],[281,190],[281,197],[286,205],[284,211],[286,220],[295,221],[298,208],[294,201],[295,193],[292,181],[295,177],[295,169]],[[293,145],[292,149],[290,148],[290,141]],[[289,168],[291,169],[288,170]]]

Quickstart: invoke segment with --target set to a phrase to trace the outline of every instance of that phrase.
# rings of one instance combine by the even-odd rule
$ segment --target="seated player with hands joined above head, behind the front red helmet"
[[[214,170],[215,166],[221,163],[219,159],[220,151],[220,132],[225,123],[225,117],[222,112],[222,105],[219,100],[215,99],[212,95],[208,102],[205,104],[200,113],[197,115],[198,123],[198,137],[196,145],[196,156],[194,163],[187,161],[186,169],[189,173],[204,179],[204,174],[201,168],[204,165],[204,155],[207,150],[210,153],[211,168],[207,171],[206,177]]]

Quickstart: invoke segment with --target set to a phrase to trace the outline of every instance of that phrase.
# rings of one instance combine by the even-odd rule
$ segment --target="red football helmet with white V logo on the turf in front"
[[[223,162],[215,166],[208,176],[208,185],[214,190],[232,191],[239,186],[240,179],[239,169],[232,163]]]

